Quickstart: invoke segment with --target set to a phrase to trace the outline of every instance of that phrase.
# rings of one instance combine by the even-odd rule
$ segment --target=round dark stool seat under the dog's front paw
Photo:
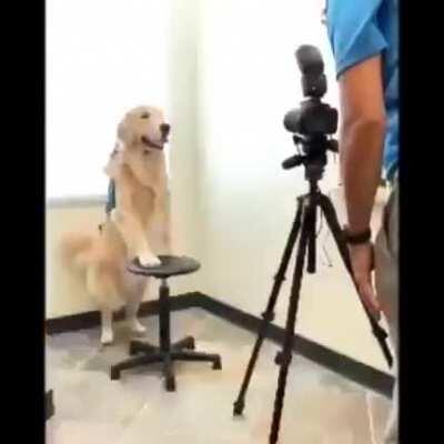
[[[139,261],[134,261],[127,266],[127,270],[143,276],[168,279],[181,274],[190,274],[201,268],[196,260],[188,256],[160,255],[158,258],[162,262],[160,265],[148,268],[140,265]]]

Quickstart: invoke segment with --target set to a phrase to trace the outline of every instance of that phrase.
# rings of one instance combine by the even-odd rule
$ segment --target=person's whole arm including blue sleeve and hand
[[[340,84],[341,174],[351,234],[370,228],[382,170],[385,138],[382,58],[387,41],[380,29],[380,0],[329,0],[326,4],[327,33]],[[372,284],[372,243],[350,244],[349,249],[361,299],[379,316],[381,306]]]

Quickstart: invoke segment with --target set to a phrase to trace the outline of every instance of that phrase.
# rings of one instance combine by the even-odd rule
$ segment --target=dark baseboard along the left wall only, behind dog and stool
[[[179,296],[171,297],[171,309],[173,311],[186,310],[196,306],[200,295],[198,293],[186,293]],[[198,305],[199,306],[199,305]],[[149,316],[159,313],[158,301],[145,301],[140,306],[140,316]],[[123,310],[114,313],[114,321],[121,321],[124,317]],[[65,332],[73,332],[78,330],[93,329],[100,325],[100,312],[92,311],[69,316],[53,317],[46,321],[46,333],[58,334]]]

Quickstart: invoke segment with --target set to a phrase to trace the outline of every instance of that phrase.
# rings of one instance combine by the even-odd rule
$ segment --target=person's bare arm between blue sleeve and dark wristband
[[[381,180],[385,135],[381,54],[346,70],[339,79],[342,128],[340,157],[349,230],[370,228]]]

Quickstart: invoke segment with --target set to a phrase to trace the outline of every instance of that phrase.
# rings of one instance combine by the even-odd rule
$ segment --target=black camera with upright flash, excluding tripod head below
[[[337,151],[337,143],[327,139],[337,131],[337,110],[322,102],[326,92],[324,62],[320,51],[312,46],[302,46],[295,53],[302,72],[302,91],[306,100],[300,108],[289,111],[284,127],[296,134],[295,143],[301,144],[304,154],[313,157],[326,150]]]

